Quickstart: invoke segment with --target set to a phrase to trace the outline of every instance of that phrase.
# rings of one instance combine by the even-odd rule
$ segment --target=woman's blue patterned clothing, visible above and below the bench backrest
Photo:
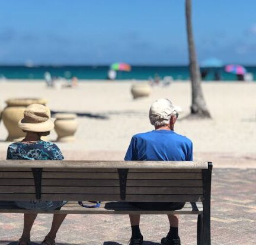
[[[55,143],[36,141],[33,143],[15,142],[9,145],[7,160],[63,160],[64,157]],[[25,209],[55,210],[66,201],[15,201]]]

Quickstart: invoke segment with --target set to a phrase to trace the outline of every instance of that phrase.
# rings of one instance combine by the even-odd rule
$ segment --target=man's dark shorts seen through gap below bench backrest
[[[185,202],[129,202],[143,210],[180,210]]]

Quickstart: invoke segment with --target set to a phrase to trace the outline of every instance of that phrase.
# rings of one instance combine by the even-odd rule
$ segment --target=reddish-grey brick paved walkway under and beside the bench
[[[256,169],[214,169],[212,183],[212,245],[254,245],[256,240]],[[0,244],[14,245],[21,234],[22,214],[0,214]],[[31,244],[40,244],[51,215],[39,215]],[[181,217],[182,244],[196,244],[196,217]],[[144,215],[144,245],[159,244],[167,234],[164,215]],[[126,215],[68,215],[57,235],[58,245],[120,245],[130,239]]]

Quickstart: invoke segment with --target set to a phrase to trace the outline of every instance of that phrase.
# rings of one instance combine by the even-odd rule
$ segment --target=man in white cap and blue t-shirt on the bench
[[[174,132],[178,118],[174,105],[168,99],[159,99],[149,110],[149,119],[155,130],[139,133],[132,137],[124,160],[126,161],[193,161],[193,145],[190,139]],[[181,202],[132,202],[137,207],[147,210],[184,207]],[[170,229],[162,245],[180,245],[178,236],[178,215],[168,215]],[[132,238],[130,245],[141,245],[143,236],[139,228],[140,215],[130,215]]]

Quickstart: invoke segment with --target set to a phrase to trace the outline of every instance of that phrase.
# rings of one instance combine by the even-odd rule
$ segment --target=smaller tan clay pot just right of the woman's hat
[[[76,115],[69,113],[57,113],[55,117],[55,131],[57,133],[57,141],[74,141],[75,132],[78,127]]]

